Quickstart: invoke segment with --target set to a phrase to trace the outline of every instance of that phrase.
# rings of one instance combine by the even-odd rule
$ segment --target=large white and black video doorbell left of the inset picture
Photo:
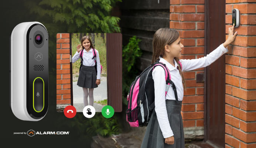
[[[10,107],[20,120],[39,121],[48,110],[48,33],[39,22],[20,23],[10,37]]]

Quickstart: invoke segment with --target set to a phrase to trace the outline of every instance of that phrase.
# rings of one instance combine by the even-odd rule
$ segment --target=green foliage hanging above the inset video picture
[[[120,18],[110,16],[116,2],[121,0],[42,0],[28,1],[30,12],[45,18],[47,30],[75,32],[120,32]],[[54,31],[53,31],[54,30]]]

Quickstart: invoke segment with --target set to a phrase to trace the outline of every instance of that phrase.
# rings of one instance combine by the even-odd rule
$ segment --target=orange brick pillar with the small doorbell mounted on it
[[[256,148],[256,4],[250,2],[256,0],[226,0],[226,34],[232,10],[240,11],[238,35],[226,55],[226,148]]]

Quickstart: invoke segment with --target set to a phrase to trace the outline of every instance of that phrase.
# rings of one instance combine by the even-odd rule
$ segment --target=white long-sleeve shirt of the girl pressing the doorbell
[[[192,60],[183,60],[180,59],[180,62],[182,64],[182,71],[189,71],[194,70],[197,68],[202,68],[209,66],[211,63],[216,61],[221,55],[226,53],[228,51],[227,48],[221,44],[219,47],[217,47],[215,50],[213,50],[210,54],[207,54],[205,57],[201,57],[198,59],[192,59]],[[168,63],[164,58],[160,57],[160,62],[164,63],[167,68],[170,71],[171,75],[171,81],[175,84],[177,88],[177,95],[178,100],[183,100],[183,84],[182,84],[182,78],[179,73],[179,70],[177,69],[178,64],[174,60],[175,67]],[[152,71],[152,78],[154,80],[154,88],[155,88],[155,112],[157,114],[157,120],[160,125],[160,129],[163,133],[164,138],[168,138],[173,136],[173,131],[171,129],[168,116],[167,116],[167,110],[166,110],[166,104],[165,100],[175,100],[174,91],[170,87],[167,91],[167,95],[165,97],[165,72],[164,68],[157,66]]]

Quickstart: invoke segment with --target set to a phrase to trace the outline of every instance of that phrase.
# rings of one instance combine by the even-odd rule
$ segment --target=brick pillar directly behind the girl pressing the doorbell
[[[180,33],[181,59],[204,57],[204,0],[170,0],[170,28]],[[204,134],[204,83],[196,82],[200,73],[204,68],[184,72],[187,91],[181,114],[185,138],[203,138]]]

